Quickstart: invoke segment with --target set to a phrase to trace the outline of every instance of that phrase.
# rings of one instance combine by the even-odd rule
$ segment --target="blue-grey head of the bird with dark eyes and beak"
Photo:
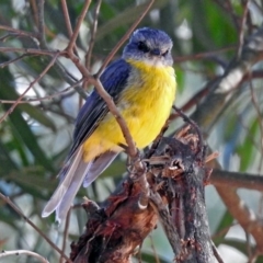
[[[124,59],[141,60],[152,66],[172,66],[173,43],[160,30],[142,27],[136,30],[123,52]]]

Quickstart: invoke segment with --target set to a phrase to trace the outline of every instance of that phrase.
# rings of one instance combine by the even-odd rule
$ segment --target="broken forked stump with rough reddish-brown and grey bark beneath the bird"
[[[71,244],[70,259],[132,262],[159,219],[175,262],[215,262],[204,197],[210,171],[205,168],[199,136],[184,128],[174,138],[160,137],[148,155],[132,162],[129,171],[101,207],[91,201],[83,205],[89,220]]]

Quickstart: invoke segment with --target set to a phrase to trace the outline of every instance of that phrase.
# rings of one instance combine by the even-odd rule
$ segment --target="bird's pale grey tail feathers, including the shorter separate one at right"
[[[107,151],[94,161],[84,162],[82,148],[80,148],[61,170],[59,174],[60,183],[43,209],[42,217],[47,217],[56,210],[56,220],[60,222],[65,219],[83,180],[83,185],[89,186],[112,163],[117,155]]]

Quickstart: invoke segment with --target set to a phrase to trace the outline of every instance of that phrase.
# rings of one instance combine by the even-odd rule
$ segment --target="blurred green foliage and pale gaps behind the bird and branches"
[[[83,2],[67,1],[73,27]],[[91,43],[92,26],[96,21],[98,2],[100,1],[91,2],[77,41],[78,53],[83,62]],[[103,59],[144,11],[146,3],[144,0],[101,1],[94,47],[88,65],[91,72],[96,72]],[[0,47],[11,47],[9,52],[0,49],[0,117],[50,61],[48,56],[23,55],[12,48],[62,50],[68,44],[68,31],[60,1],[46,0],[44,7],[45,41],[39,41],[5,27],[37,36],[37,1],[0,1]],[[207,116],[198,124],[209,148],[219,151],[218,162],[222,171],[262,173],[263,64],[254,65],[252,70],[256,73],[251,73],[251,78],[238,83],[230,92],[231,98],[220,104],[215,102],[210,104],[210,108],[202,108],[202,103],[208,96],[196,94],[201,91],[206,94],[209,91],[209,83],[222,76],[231,65],[242,44],[242,34],[247,38],[262,22],[262,0],[156,0],[139,25],[161,28],[172,37],[178,79],[175,104],[183,106],[187,115],[195,116],[196,111],[203,111],[204,116]],[[121,54],[122,48],[115,58]],[[70,60],[58,60],[60,68],[57,65],[52,67],[23,99],[34,101],[19,104],[0,124],[0,192],[9,196],[26,217],[61,247],[64,226],[57,228],[54,216],[43,219],[41,213],[58,183],[56,174],[69,150],[73,122],[83,99],[71,87],[81,79],[80,72]],[[67,70],[62,71],[61,68]],[[91,87],[87,88],[90,92]],[[81,87],[78,90],[80,89]],[[215,111],[217,107],[220,107],[220,111]],[[181,125],[182,121],[175,119],[170,132]],[[103,201],[124,173],[125,155],[90,188],[81,188],[76,204],[80,204],[84,195],[96,202]],[[262,220],[262,194],[245,188],[240,188],[237,193],[240,203],[242,201],[249,207],[251,216]],[[206,187],[206,203],[210,233],[225,262],[233,262],[233,259],[239,263],[253,262],[253,259],[263,262],[263,258],[253,254],[256,243],[249,229],[239,225],[239,218],[229,213],[228,204],[220,198],[214,186]],[[82,208],[76,205],[70,217],[66,253],[70,251],[70,242],[82,233],[85,220]],[[58,262],[59,258],[46,241],[1,199],[0,249],[35,251],[50,262]],[[144,262],[172,262],[173,253],[161,227],[145,240],[140,254]],[[10,259],[0,262],[35,262],[25,256]]]

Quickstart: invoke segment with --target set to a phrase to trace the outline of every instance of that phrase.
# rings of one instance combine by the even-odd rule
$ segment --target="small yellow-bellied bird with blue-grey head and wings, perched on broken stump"
[[[165,32],[138,28],[122,57],[100,77],[138,149],[155,140],[175,100],[172,46]],[[124,151],[124,146],[127,144],[117,121],[94,89],[77,116],[72,146],[58,174],[59,184],[42,217],[56,210],[56,221],[64,220],[81,184],[88,187]]]

